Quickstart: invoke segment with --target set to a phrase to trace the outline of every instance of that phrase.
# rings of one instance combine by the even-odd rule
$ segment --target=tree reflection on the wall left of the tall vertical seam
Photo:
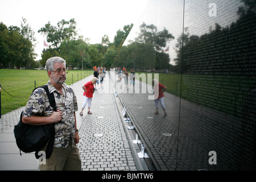
[[[143,23],[140,28],[141,32],[135,42],[123,47],[113,64],[134,69],[170,68],[170,57],[163,50],[174,36],[166,28],[158,31],[154,24]]]

